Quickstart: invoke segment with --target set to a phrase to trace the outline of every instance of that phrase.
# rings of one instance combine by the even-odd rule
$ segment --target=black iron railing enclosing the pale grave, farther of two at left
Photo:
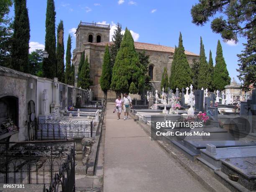
[[[93,137],[92,120],[38,120],[36,139],[70,139],[74,135]]]

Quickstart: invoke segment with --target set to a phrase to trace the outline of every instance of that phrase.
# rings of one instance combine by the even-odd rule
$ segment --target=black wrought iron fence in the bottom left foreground
[[[61,188],[65,189],[62,191],[74,189],[73,140],[1,142],[0,145],[0,183],[55,186],[59,178]]]

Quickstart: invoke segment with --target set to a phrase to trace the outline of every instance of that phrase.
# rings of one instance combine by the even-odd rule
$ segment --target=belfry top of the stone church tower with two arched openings
[[[76,31],[76,50],[83,51],[84,43],[109,42],[110,25],[80,22]]]

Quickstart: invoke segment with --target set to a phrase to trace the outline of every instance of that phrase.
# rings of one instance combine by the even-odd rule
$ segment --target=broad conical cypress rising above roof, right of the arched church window
[[[177,49],[177,63],[175,64],[174,87],[182,89],[192,83],[192,74],[185,54],[182,42],[182,34],[179,33],[179,47]]]

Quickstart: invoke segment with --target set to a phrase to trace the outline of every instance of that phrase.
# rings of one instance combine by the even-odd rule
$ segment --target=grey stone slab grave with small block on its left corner
[[[221,159],[256,156],[256,143],[254,144],[255,146],[216,148],[215,154],[208,152],[206,149],[200,149],[201,157],[197,159],[210,168],[218,170],[221,169]]]

